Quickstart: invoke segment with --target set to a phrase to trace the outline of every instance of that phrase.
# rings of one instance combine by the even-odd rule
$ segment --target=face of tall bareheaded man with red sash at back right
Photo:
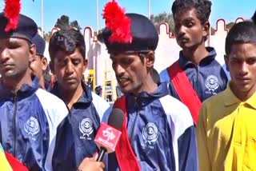
[[[176,14],[174,24],[174,35],[178,45],[182,47],[183,56],[198,65],[209,54],[205,47],[209,22],[202,23],[192,9]]]

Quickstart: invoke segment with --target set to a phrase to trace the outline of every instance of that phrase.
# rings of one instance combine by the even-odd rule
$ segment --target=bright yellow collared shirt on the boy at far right
[[[230,86],[202,104],[197,125],[199,170],[256,170],[256,93],[239,101]]]

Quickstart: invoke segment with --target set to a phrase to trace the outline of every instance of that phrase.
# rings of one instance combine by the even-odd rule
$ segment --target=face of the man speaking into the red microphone
[[[150,74],[154,66],[154,52],[146,54],[142,59],[143,63],[138,53],[111,54],[110,58],[123,93],[133,93],[137,96],[142,90],[151,93],[157,88]]]

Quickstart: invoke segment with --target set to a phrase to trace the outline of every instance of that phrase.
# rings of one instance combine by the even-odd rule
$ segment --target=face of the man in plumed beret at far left
[[[30,83],[30,62],[35,56],[35,47],[22,38],[0,39],[0,74],[10,89],[19,89]]]

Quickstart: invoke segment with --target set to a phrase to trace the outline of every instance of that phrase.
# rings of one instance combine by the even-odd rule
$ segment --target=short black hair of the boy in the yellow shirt
[[[231,27],[226,36],[226,55],[230,54],[234,44],[240,43],[256,43],[256,25],[254,22],[238,22]]]

